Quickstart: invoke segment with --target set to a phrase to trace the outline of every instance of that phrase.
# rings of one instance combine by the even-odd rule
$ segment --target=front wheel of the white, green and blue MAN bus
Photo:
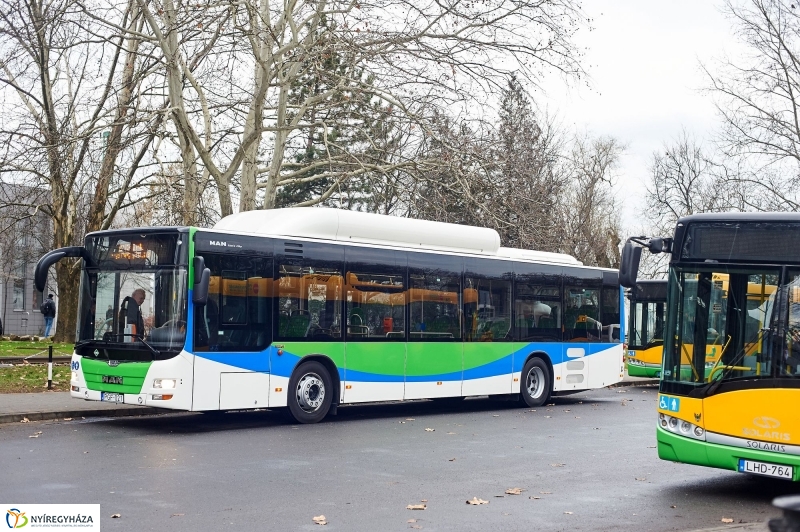
[[[298,423],[319,423],[331,408],[333,381],[319,362],[303,362],[292,373],[288,392],[289,415]]]

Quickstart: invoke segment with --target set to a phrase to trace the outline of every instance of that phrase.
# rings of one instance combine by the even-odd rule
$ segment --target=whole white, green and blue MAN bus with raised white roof
[[[36,282],[63,257],[83,259],[76,398],[312,423],[366,401],[537,406],[622,377],[618,272],[490,229],[252,211],[91,233],[42,257]]]

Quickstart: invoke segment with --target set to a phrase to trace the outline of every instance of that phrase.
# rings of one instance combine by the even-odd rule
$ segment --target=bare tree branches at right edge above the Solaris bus
[[[748,210],[798,210],[800,13],[783,0],[726,7],[749,53],[703,67],[722,119],[720,173]]]

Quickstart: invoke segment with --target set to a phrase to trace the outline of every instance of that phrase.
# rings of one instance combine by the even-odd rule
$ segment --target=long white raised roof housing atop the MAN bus
[[[562,253],[504,248],[494,229],[343,209],[295,207],[226,216],[212,228],[262,236],[333,240],[346,243],[474,253],[510,259],[579,266]]]

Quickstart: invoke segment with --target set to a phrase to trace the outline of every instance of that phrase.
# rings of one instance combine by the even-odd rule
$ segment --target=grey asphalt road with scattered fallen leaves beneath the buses
[[[800,491],[658,460],[656,397],[349,406],[318,425],[276,412],[3,425],[0,503],[100,503],[106,531],[666,531],[763,522]]]

